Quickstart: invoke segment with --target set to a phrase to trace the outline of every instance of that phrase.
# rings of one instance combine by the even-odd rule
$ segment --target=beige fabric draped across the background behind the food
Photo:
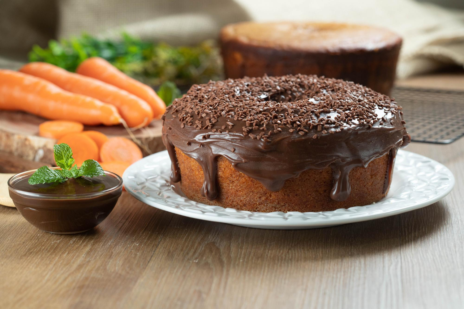
[[[243,20],[390,28],[404,38],[400,77],[464,64],[464,13],[413,0],[0,0],[0,67],[17,67],[33,43],[83,31],[114,37],[124,30],[145,39],[194,44]]]

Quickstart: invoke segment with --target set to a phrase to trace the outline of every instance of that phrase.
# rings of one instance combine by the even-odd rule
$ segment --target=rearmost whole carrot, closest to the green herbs
[[[166,104],[156,94],[155,90],[125,75],[103,58],[91,57],[84,60],[77,67],[76,72],[107,82],[147,101],[153,109],[155,117],[160,117],[166,111]]]

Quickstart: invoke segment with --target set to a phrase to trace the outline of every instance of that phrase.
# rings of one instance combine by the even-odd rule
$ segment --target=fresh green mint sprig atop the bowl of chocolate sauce
[[[85,160],[80,168],[74,164],[72,150],[68,144],[58,144],[53,146],[55,162],[61,170],[52,170],[48,166],[42,166],[29,178],[29,184],[39,183],[63,183],[68,178],[77,177],[97,177],[105,175],[100,164],[92,159]]]

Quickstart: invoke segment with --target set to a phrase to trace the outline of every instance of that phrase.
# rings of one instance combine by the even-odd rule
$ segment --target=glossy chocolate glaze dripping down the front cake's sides
[[[342,92],[343,89],[346,90],[347,88],[355,88],[353,94],[360,94],[366,91],[362,86],[340,80],[316,78],[315,76],[297,76],[297,78],[299,82],[301,80],[303,80],[303,83],[307,82],[308,84],[316,82],[319,86],[320,84],[322,86],[327,84],[331,85],[330,87],[332,88],[332,84],[335,83],[335,88],[340,89]],[[240,85],[244,83],[245,88],[246,85],[257,82],[256,79],[236,81]],[[278,80],[273,80],[272,82],[278,82]],[[283,82],[285,82],[285,78]],[[210,82],[208,84],[210,88],[217,86],[221,88],[229,87],[227,85],[233,88],[235,84],[232,80],[228,80],[222,84],[220,82]],[[405,146],[410,139],[406,132],[404,121],[402,121],[400,107],[396,110],[397,105],[394,102],[389,103],[388,107],[375,106],[374,108],[365,109],[364,114],[366,114],[366,110],[369,110],[374,113],[372,116],[369,115],[371,118],[374,116],[378,118],[375,122],[371,121],[369,124],[359,124],[358,121],[352,120],[348,124],[348,122],[345,123],[342,121],[335,125],[324,126],[324,130],[319,128],[319,131],[316,126],[305,126],[307,132],[298,131],[303,133],[303,135],[298,134],[297,131],[290,131],[293,127],[279,126],[281,132],[273,134],[269,138],[265,136],[261,139],[258,139],[259,136],[258,138],[251,138],[250,135],[252,135],[252,132],[258,132],[259,130],[253,129],[250,130],[250,134],[244,134],[242,132],[242,125],[245,120],[234,119],[233,115],[232,117],[219,117],[212,126],[201,127],[199,129],[198,127],[186,125],[185,121],[180,121],[180,114],[185,112],[185,108],[191,105],[187,104],[187,107],[184,106],[180,109],[179,107],[182,100],[194,101],[194,93],[201,87],[194,85],[186,96],[174,102],[174,107],[168,109],[164,118],[162,137],[172,161],[172,182],[177,183],[181,180],[174,151],[174,147],[177,147],[188,157],[195,159],[202,167],[205,181],[201,194],[209,200],[214,200],[219,193],[216,180],[216,157],[218,156],[224,156],[236,170],[257,179],[266,189],[271,191],[279,191],[287,179],[298,177],[305,170],[324,169],[330,166],[334,175],[334,183],[330,196],[335,201],[344,201],[350,194],[349,172],[354,167],[366,167],[375,158],[380,158],[390,153],[390,167],[384,186],[384,191],[386,192],[390,184],[391,168],[393,168],[396,151],[400,146]],[[241,93],[240,89],[234,91],[237,100],[249,97],[250,102],[253,100],[259,101],[258,96],[253,97],[252,92],[254,90],[251,93],[250,91],[245,91],[245,95]],[[268,89],[267,95],[262,94],[261,98],[275,98],[276,93],[271,93],[272,91],[272,89]],[[309,91],[306,91],[305,96],[302,96],[301,92],[290,92],[290,94],[287,92],[279,99],[283,99],[282,101],[284,101],[303,97],[303,100],[306,100],[306,102],[317,101],[319,104],[319,101],[316,99],[320,99],[320,96],[316,94],[322,93],[323,95],[327,95],[327,92],[322,87],[311,91],[312,97],[308,95]],[[331,91],[329,90],[329,92]],[[369,91],[371,97],[373,94],[376,95],[372,90],[369,89]],[[386,96],[377,95],[380,96],[381,100],[388,100]],[[229,101],[234,106],[234,100],[230,99]],[[361,98],[360,101],[362,101]],[[241,103],[247,104],[246,101]],[[269,106],[282,105],[277,104],[275,101],[261,101],[259,104],[263,108],[261,108],[258,114],[267,110],[266,108]],[[292,111],[296,108],[301,108],[301,105],[298,107],[293,102],[284,103],[284,106],[286,106],[285,108],[292,108]],[[358,112],[359,109],[357,110]],[[328,109],[316,114],[316,117],[314,117],[316,120],[314,121],[319,121],[317,119],[334,119],[339,114],[335,110]],[[201,119],[201,116],[198,119],[193,118],[193,120],[198,120]],[[234,126],[226,130],[228,132],[212,132],[213,128],[229,127],[230,124],[234,124]],[[335,129],[338,132],[335,132]]]

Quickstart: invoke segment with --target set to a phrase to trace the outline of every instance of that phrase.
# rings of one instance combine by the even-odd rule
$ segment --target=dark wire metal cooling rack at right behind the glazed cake
[[[464,91],[395,87],[415,142],[448,144],[464,136]]]

